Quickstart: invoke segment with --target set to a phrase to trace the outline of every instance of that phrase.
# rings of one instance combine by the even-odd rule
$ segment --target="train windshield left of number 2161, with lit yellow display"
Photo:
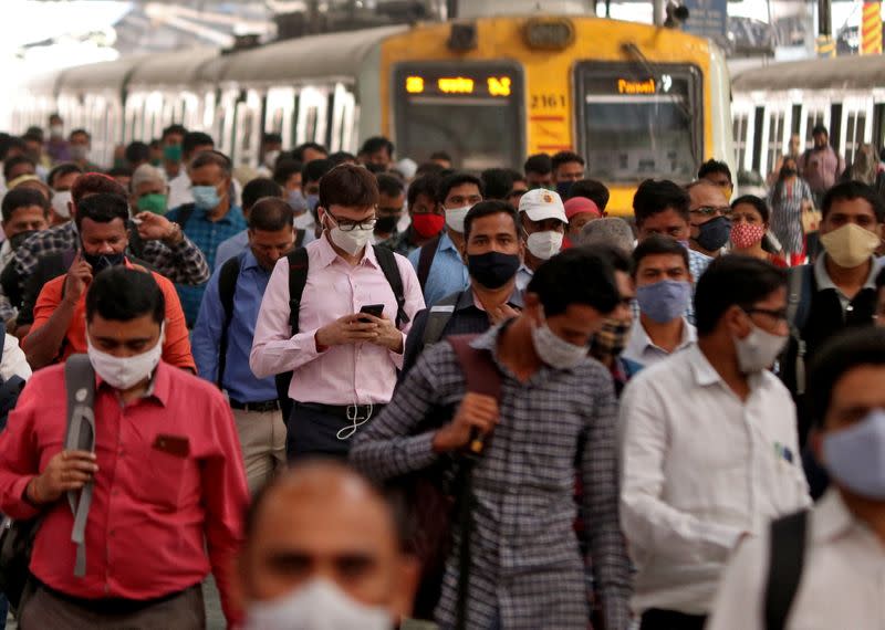
[[[522,77],[511,64],[397,66],[396,146],[418,164],[445,150],[465,170],[522,164]]]

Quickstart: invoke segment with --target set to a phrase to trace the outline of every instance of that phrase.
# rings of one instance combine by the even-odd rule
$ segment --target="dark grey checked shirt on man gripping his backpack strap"
[[[501,329],[491,328],[473,342],[473,347],[492,351],[502,384],[501,421],[473,469],[470,627],[489,628],[497,615],[509,629],[587,627],[587,586],[572,529],[575,453],[583,434],[580,472],[584,505],[593,515],[587,528],[595,589],[606,628],[626,629],[629,566],[617,523],[612,377],[587,359],[572,369],[542,366],[523,382],[498,358]],[[428,413],[455,408],[464,395],[454,349],[436,344],[420,356],[381,416],[357,433],[351,460],[376,480],[437,463],[436,431],[416,432]],[[454,624],[456,576],[457,553],[449,556],[436,613],[444,627]]]

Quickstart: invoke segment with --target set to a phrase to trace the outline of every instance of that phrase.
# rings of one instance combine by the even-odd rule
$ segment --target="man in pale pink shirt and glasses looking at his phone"
[[[249,366],[258,378],[293,370],[290,459],[347,455],[360,427],[391,400],[406,333],[424,308],[415,271],[394,254],[405,298],[397,316],[381,254],[369,244],[377,203],[378,187],[368,170],[341,165],[329,171],[320,180],[323,234],[305,248],[296,334],[290,326],[290,259],[277,264],[264,292]],[[360,313],[372,305],[383,306],[379,317]]]

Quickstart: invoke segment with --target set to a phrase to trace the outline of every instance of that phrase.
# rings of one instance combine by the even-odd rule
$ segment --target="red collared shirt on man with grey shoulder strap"
[[[74,577],[65,496],[43,511],[31,571],[72,597],[152,599],[199,584],[211,566],[225,613],[236,621],[233,559],[249,495],[223,396],[162,361],[153,391],[126,405],[96,380],[98,472],[86,522],[86,575]],[[0,435],[0,510],[13,518],[39,514],[23,500],[24,490],[63,449],[64,390],[64,366],[35,372]],[[187,453],[158,448],[160,435],[180,439]]]

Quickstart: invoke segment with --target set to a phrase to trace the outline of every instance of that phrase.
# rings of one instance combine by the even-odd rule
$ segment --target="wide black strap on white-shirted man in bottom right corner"
[[[802,581],[809,512],[802,511],[771,523],[771,544],[766,585],[766,630],[783,630]]]

